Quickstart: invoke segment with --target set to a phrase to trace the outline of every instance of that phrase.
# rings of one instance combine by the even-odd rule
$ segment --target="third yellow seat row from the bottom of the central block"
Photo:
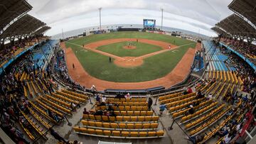
[[[84,119],[95,121],[158,121],[159,116],[94,116],[92,114],[84,114]]]

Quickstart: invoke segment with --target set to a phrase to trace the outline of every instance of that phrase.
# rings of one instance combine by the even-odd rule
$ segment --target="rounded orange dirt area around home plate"
[[[136,57],[122,57],[124,58],[124,60],[122,59],[116,59],[114,60],[114,64],[119,66],[119,67],[137,67],[139,65],[143,64],[143,60],[142,59],[135,59]]]

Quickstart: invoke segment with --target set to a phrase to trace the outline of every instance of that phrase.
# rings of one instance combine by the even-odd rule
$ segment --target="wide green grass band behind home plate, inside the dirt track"
[[[98,36],[102,38],[102,35]],[[166,35],[162,36],[166,37]],[[90,41],[89,39],[87,38],[88,41]],[[69,42],[80,44],[78,41],[72,40],[72,42]],[[159,55],[147,57],[144,59],[144,64],[139,67],[124,68],[114,65],[113,62],[109,62],[109,57],[105,55],[83,50],[79,46],[70,43],[65,43],[65,45],[67,48],[72,48],[74,52],[78,51],[75,55],[92,77],[111,82],[144,82],[164,77],[174,69],[188,48],[196,47],[196,43],[190,42],[190,45],[181,46],[181,48],[176,49],[176,52],[170,50]]]

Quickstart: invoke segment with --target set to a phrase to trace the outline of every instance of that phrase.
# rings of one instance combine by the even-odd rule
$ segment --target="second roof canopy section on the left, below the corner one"
[[[31,34],[38,28],[41,28],[42,26],[45,25],[46,23],[43,23],[37,18],[34,18],[33,16],[26,14],[25,16],[22,16],[13,24],[11,24],[11,26],[6,28],[4,33],[0,35],[0,38],[9,38],[18,35]]]

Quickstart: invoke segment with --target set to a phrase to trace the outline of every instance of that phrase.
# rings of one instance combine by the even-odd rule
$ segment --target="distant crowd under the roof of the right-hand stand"
[[[232,46],[234,50],[238,51],[240,54],[250,59],[251,62],[256,64],[256,45],[230,38],[221,38],[221,41]]]

